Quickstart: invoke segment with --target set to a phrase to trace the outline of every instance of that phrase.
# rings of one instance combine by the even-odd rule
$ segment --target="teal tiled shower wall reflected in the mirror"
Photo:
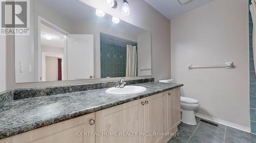
[[[126,47],[100,42],[101,78],[125,77]]]

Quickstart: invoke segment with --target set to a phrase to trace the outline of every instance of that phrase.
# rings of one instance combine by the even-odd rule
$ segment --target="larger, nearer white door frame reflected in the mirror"
[[[54,30],[62,33],[63,35],[65,35],[64,41],[65,41],[65,47],[64,47],[64,54],[63,54],[63,58],[62,58],[62,62],[63,62],[63,79],[62,80],[67,80],[67,37],[68,37],[68,32],[63,30],[62,28],[58,27],[57,25],[53,24],[52,22],[46,20],[45,18],[42,18],[40,16],[38,16],[38,24],[37,24],[37,44],[38,44],[38,81],[43,81],[42,80],[42,53],[41,53],[41,23],[53,28]]]

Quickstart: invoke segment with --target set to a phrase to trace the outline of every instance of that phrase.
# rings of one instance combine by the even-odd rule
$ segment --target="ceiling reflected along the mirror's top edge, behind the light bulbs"
[[[112,16],[109,14],[106,14],[104,17],[98,17],[95,14],[95,8],[77,0],[44,0],[43,2],[51,7],[55,12],[61,14],[74,23],[81,21],[94,21],[97,22],[98,25],[105,25],[105,31],[114,31],[134,36],[146,32],[145,30],[122,20],[120,20],[119,24],[114,24],[111,21]]]

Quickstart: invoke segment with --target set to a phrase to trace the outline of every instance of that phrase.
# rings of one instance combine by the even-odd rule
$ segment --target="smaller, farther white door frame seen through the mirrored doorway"
[[[61,61],[62,77],[61,78],[63,80],[63,53],[42,52],[42,81],[46,81],[46,56],[62,59]]]

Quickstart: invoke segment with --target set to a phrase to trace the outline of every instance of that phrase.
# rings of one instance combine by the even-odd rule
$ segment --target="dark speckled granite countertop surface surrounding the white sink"
[[[143,93],[110,95],[106,89],[13,100],[0,108],[0,139],[168,91],[183,84],[146,82]]]

